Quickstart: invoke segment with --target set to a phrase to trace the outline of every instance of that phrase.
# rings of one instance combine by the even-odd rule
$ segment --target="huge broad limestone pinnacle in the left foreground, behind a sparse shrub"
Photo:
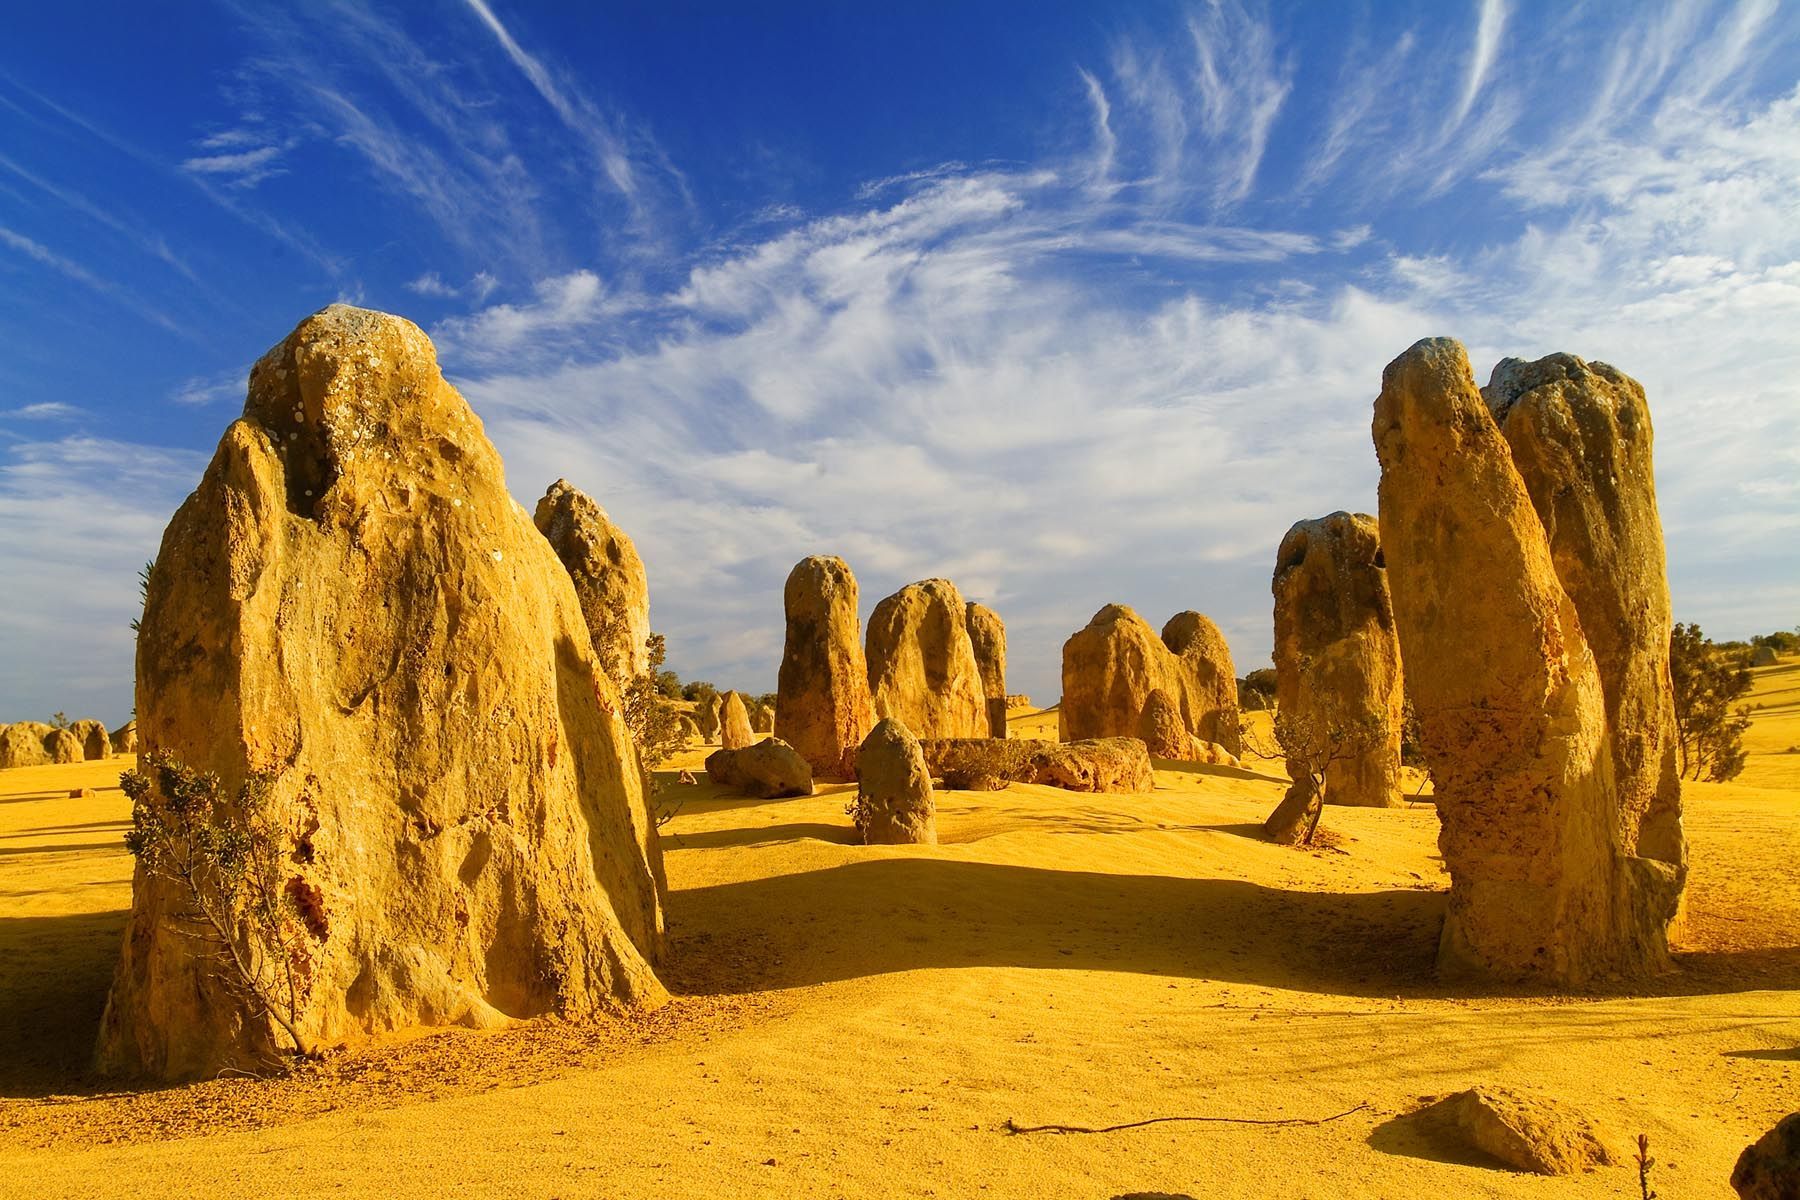
[[[612,682],[410,322],[331,306],[256,363],[164,534],[137,702],[146,752],[227,793],[266,779],[313,1043],[664,999],[662,860]],[[139,867],[103,1070],[279,1045],[185,909]]]

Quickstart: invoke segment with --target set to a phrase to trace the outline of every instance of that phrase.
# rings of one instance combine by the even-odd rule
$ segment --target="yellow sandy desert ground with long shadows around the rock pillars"
[[[4,770],[0,1195],[1638,1195],[1634,1166],[1521,1175],[1411,1115],[1496,1083],[1586,1112],[1622,1162],[1647,1133],[1667,1200],[1730,1196],[1800,1108],[1800,660],[1753,702],[1748,770],[1687,786],[1679,970],[1631,993],[1438,984],[1429,804],[1332,808],[1323,846],[1282,849],[1256,835],[1273,765],[1159,763],[1148,795],[940,792],[940,846],[862,847],[853,786],[679,786],[691,748],[661,772],[664,1009],[144,1090],[86,1078],[130,761]],[[1152,1117],[1206,1121],[1012,1132]]]

